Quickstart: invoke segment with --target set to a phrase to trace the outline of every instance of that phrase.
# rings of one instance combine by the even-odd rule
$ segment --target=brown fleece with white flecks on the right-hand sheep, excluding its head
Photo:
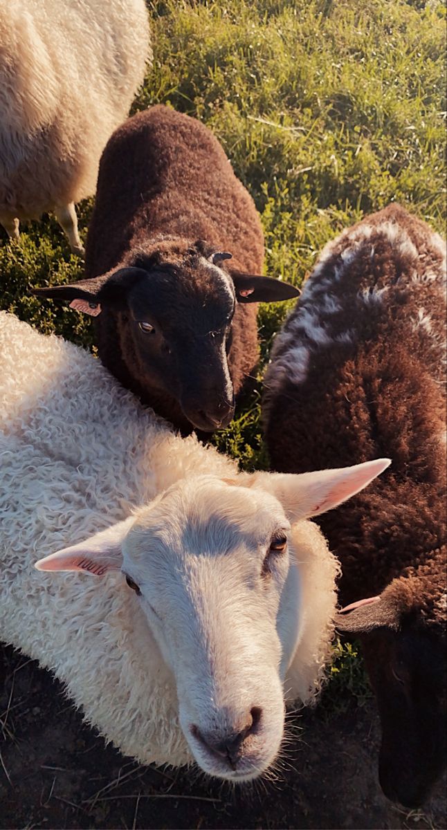
[[[445,319],[445,243],[390,205],[322,251],[263,399],[278,471],[391,457],[319,520],[341,561],[341,604],[386,589],[402,613],[444,628]]]

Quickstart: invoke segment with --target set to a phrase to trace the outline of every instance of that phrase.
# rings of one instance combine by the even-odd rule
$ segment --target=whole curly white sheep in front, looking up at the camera
[[[0,364],[0,636],[141,763],[256,777],[330,652],[338,565],[302,519],[387,462],[238,474],[4,312]]]

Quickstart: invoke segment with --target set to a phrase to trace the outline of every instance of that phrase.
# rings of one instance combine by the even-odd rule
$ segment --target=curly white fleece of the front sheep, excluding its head
[[[149,764],[186,764],[174,678],[122,574],[33,563],[124,519],[184,476],[235,463],[182,439],[73,344],[0,313],[0,635],[47,666],[106,740]],[[336,560],[317,525],[293,527],[302,637],[284,688],[310,701],[333,633]]]

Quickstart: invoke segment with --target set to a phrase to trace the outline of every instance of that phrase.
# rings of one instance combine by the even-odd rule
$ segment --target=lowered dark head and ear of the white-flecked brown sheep
[[[361,640],[381,716],[381,788],[415,808],[445,769],[445,630],[416,611],[401,614],[386,595],[373,599],[380,601],[349,606],[336,625]]]

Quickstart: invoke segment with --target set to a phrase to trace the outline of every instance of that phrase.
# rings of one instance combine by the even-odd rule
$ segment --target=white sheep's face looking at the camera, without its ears
[[[175,676],[186,740],[222,778],[259,774],[282,740],[277,618],[289,530],[270,494],[206,476],[140,510],[123,544],[122,569]]]

